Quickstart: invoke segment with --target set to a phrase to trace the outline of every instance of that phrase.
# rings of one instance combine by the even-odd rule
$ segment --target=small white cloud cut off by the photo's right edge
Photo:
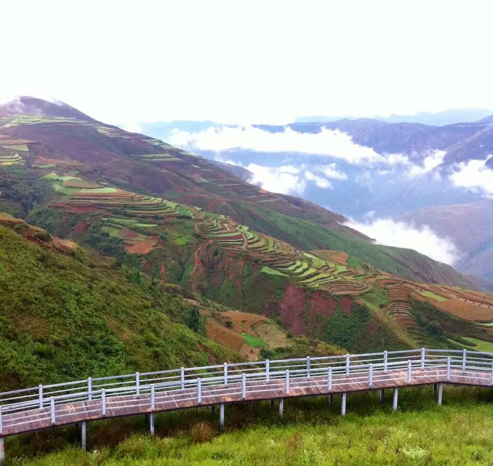
[[[456,186],[479,192],[484,197],[493,199],[493,170],[485,163],[484,160],[461,162],[456,165],[456,171],[450,175],[450,180]]]

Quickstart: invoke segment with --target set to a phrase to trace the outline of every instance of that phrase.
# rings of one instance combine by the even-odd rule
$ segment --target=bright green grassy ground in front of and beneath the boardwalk
[[[150,438],[145,424],[134,425],[141,434],[122,441],[129,422],[89,427],[96,451],[85,454],[67,448],[59,453],[25,461],[29,466],[72,464],[105,466],[189,465],[463,465],[492,464],[491,393],[445,389],[445,405],[438,407],[427,389],[402,390],[400,409],[390,411],[375,392],[351,396],[348,414],[339,414],[339,400],[288,400],[285,418],[269,412],[268,403],[227,406],[226,434],[218,435],[217,421],[205,410],[158,415],[157,437]],[[246,426],[245,426],[246,425]],[[426,426],[426,429],[423,429]],[[73,429],[72,429],[73,431]],[[107,432],[107,435],[102,435]],[[99,435],[99,439],[96,437]],[[104,437],[104,438],[102,438]],[[54,436],[51,437],[53,442]],[[28,439],[25,440],[25,447]],[[108,448],[108,443],[115,442]],[[95,442],[95,443],[94,443]],[[120,443],[118,443],[120,442]],[[53,442],[54,444],[54,442]],[[60,444],[59,444],[60,445]],[[24,451],[12,439],[7,452]],[[13,462],[12,462],[13,464]],[[18,464],[15,463],[15,464]]]

